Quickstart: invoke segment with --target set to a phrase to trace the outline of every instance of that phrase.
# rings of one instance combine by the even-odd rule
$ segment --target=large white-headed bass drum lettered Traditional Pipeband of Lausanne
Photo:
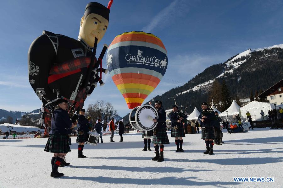
[[[150,131],[155,128],[157,122],[153,122],[153,119],[158,119],[158,113],[151,105],[137,106],[129,115],[131,126],[142,131]]]

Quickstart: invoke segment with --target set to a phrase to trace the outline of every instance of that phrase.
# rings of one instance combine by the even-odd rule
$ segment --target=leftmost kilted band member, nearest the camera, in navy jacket
[[[44,148],[44,151],[54,153],[51,159],[51,177],[63,176],[63,173],[58,172],[58,167],[60,165],[69,165],[64,161],[64,158],[71,151],[68,134],[71,133],[72,121],[66,111],[66,102],[64,99],[57,99],[54,103],[56,108],[51,121],[51,131]]]

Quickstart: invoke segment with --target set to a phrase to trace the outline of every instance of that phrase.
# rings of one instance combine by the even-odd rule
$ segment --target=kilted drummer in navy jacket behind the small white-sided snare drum
[[[80,109],[79,112],[79,118],[78,118],[78,134],[77,134],[77,140],[76,142],[79,143],[78,145],[78,158],[86,158],[82,153],[84,149],[84,144],[86,140],[88,139],[88,131],[89,131],[89,125],[88,120],[85,117],[85,109]]]

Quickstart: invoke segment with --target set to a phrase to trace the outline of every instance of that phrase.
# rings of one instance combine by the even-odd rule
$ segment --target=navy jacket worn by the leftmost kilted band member
[[[49,134],[71,134],[72,121],[66,110],[59,108],[53,113]]]

